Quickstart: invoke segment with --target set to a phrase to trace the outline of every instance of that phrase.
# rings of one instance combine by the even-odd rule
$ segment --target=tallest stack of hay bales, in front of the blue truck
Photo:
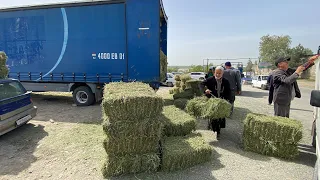
[[[110,83],[102,101],[105,177],[157,171],[163,99],[144,83]]]

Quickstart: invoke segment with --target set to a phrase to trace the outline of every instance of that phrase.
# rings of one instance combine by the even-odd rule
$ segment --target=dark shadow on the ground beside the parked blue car
[[[25,124],[0,136],[0,175],[17,175],[37,161],[33,155],[48,133],[44,126]]]

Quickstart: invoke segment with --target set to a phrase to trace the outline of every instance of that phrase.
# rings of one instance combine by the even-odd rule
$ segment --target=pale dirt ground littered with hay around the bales
[[[158,93],[168,97],[167,92],[163,88]],[[198,131],[214,147],[210,162],[173,173],[112,179],[310,179],[315,162],[310,137],[302,142],[305,151],[294,161],[243,151],[242,120],[248,112],[270,112],[271,108],[264,110],[267,105],[257,99],[250,105],[248,99],[252,97],[237,98],[220,141],[206,129],[205,121],[199,121]],[[37,117],[0,137],[0,179],[103,179],[100,169],[106,155],[100,105],[73,106],[69,93],[38,93],[33,101],[39,108]]]

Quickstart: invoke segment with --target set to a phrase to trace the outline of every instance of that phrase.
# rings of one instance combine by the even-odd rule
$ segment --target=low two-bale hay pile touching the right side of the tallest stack
[[[210,161],[212,147],[201,134],[194,132],[196,119],[175,106],[163,109],[164,138],[162,140],[163,171],[185,169]]]

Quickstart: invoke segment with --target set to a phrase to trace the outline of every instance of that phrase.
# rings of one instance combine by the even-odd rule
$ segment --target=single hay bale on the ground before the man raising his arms
[[[293,159],[302,139],[302,123],[297,120],[250,113],[244,121],[243,142],[248,151]]]

